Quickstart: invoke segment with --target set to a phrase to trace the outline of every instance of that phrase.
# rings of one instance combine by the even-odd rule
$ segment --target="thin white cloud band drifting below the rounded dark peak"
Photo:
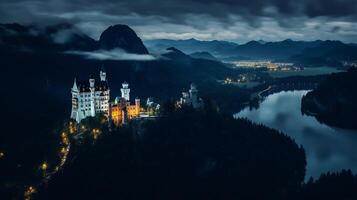
[[[80,55],[92,60],[135,60],[135,61],[151,61],[156,58],[152,55],[131,54],[122,49],[113,50],[97,50],[97,51],[67,51],[67,54]]]

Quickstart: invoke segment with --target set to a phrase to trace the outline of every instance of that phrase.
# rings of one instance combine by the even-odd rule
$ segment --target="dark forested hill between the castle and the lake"
[[[213,103],[165,113],[142,137],[129,126],[78,147],[37,199],[297,199],[306,161],[289,137]]]

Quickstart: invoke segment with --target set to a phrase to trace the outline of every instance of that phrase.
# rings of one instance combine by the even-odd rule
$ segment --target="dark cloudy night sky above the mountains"
[[[1,0],[0,23],[71,22],[94,38],[130,25],[143,39],[357,43],[357,0]]]

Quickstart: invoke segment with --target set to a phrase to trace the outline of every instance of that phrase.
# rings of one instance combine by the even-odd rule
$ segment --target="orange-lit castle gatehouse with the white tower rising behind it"
[[[140,99],[136,98],[134,104],[130,104],[130,89],[129,84],[122,84],[121,97],[116,97],[114,103],[111,104],[111,120],[116,126],[126,124],[128,120],[140,116]]]

